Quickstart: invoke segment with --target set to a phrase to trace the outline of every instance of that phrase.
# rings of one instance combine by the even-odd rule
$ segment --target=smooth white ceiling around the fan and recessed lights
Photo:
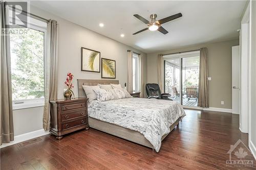
[[[245,1],[31,1],[31,5],[65,18],[80,26],[153,53],[204,42],[238,37]],[[134,14],[150,20],[176,13],[182,17],[162,25],[169,33],[144,31],[146,25]],[[104,23],[100,28],[99,23]],[[125,36],[122,38],[120,34]]]

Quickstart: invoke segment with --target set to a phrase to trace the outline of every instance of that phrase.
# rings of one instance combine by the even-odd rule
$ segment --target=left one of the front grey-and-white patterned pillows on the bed
[[[93,89],[93,91],[96,94],[97,101],[103,102],[116,99],[116,94],[113,89]]]

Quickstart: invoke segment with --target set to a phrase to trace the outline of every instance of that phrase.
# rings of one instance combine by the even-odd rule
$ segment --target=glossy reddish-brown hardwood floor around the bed
[[[248,143],[247,134],[239,131],[239,116],[185,111],[187,116],[163,140],[159,153],[89,129],[60,141],[46,135],[3,148],[1,169],[235,169],[226,166],[230,144],[238,139]],[[254,163],[246,168],[255,169],[253,156],[248,153],[245,158]]]

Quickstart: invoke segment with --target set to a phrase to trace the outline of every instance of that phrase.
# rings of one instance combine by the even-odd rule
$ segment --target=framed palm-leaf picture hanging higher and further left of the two
[[[100,72],[100,52],[81,47],[81,71]]]

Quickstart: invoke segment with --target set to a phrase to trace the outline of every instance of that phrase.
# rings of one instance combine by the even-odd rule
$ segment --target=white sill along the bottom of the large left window
[[[30,100],[12,102],[12,110],[27,109],[27,108],[42,107],[42,106],[45,106],[45,99],[32,99],[32,100],[30,99]]]

